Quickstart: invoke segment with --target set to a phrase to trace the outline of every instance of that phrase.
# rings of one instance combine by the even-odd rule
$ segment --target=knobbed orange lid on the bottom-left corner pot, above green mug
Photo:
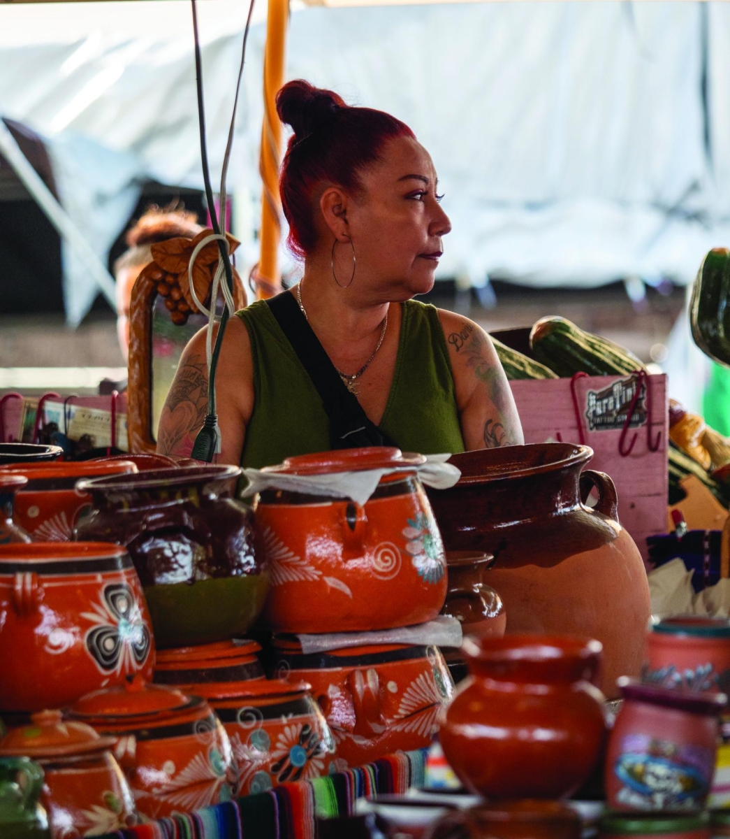
[[[111,748],[114,737],[101,737],[83,722],[64,720],[60,711],[39,711],[30,724],[11,728],[0,740],[0,756],[60,758]]]

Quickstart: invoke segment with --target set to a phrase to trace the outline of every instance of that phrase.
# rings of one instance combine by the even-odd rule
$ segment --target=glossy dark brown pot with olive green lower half
[[[75,539],[126,545],[158,647],[244,635],[267,596],[251,510],[231,496],[236,466],[186,466],[80,483],[95,512]]]

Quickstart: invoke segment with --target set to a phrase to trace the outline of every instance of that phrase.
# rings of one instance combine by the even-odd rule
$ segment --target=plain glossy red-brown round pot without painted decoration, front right
[[[467,640],[472,677],[442,715],[439,741],[473,792],[563,798],[598,763],[606,736],[597,678],[601,645],[588,638],[505,635]]]

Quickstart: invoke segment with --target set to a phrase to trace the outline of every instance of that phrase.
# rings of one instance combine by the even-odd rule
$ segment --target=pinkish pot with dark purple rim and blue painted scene
[[[605,787],[616,810],[702,810],[715,771],[724,694],[620,679]]]

